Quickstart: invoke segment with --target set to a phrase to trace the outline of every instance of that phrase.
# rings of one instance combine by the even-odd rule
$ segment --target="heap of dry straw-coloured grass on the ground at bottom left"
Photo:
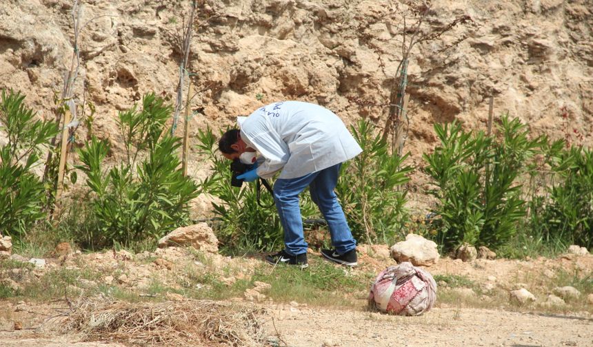
[[[208,300],[130,304],[83,299],[72,304],[63,333],[141,346],[262,346],[261,309]]]

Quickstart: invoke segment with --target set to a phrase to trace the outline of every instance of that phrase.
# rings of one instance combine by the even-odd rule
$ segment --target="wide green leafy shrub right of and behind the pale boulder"
[[[525,216],[519,178],[542,138],[530,140],[526,126],[503,116],[501,140],[483,132],[465,132],[459,123],[434,125],[441,145],[423,157],[425,171],[439,187],[434,213],[441,215],[436,240],[443,251],[463,242],[498,248],[516,233]]]

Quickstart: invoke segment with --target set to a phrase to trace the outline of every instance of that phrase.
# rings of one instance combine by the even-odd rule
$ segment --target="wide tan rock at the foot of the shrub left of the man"
[[[218,253],[219,240],[206,223],[177,228],[159,240],[159,247],[192,246],[199,251]]]

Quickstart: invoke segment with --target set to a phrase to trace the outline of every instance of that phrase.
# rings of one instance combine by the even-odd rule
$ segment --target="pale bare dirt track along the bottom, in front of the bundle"
[[[435,308],[420,317],[369,313],[363,308],[328,309],[265,305],[269,341],[286,346],[593,346],[590,316],[512,312],[480,308]],[[77,335],[2,331],[6,347],[125,346],[82,342]]]

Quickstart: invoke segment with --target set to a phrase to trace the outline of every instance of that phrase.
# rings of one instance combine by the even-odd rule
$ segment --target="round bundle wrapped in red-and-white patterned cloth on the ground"
[[[369,307],[394,315],[421,315],[436,302],[436,282],[427,271],[402,262],[379,273],[370,288]]]

